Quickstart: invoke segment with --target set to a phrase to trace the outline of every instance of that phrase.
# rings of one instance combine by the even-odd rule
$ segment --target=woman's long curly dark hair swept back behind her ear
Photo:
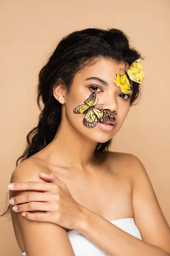
[[[40,70],[37,85],[37,104],[41,111],[38,125],[27,135],[27,145],[20,163],[48,145],[55,137],[61,121],[61,104],[53,95],[57,81],[62,82],[69,92],[74,76],[87,65],[94,64],[96,57],[132,64],[142,55],[130,46],[130,38],[120,29],[88,28],[72,32],[62,38],[47,63]],[[133,94],[130,106],[140,94],[139,84],[133,81]],[[40,100],[44,107],[41,110]],[[136,105],[133,103],[133,105]],[[98,143],[95,151],[108,151],[111,140]],[[0,216],[9,212],[10,207]]]

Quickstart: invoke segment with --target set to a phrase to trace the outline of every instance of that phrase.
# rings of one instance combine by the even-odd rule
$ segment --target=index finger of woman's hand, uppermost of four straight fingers
[[[9,185],[13,185],[12,187]],[[35,191],[49,191],[57,189],[57,184],[39,181],[27,181],[22,183],[10,183],[8,189],[10,190],[35,190]]]

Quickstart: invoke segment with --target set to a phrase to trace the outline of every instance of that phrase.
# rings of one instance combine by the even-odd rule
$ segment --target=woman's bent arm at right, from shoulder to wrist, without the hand
[[[127,154],[133,181],[133,209],[142,240],[83,207],[84,221],[77,231],[110,256],[169,256],[170,227],[164,218],[150,179],[141,161]]]

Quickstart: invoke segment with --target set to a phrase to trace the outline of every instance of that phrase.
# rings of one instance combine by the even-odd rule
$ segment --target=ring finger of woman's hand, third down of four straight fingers
[[[28,211],[48,211],[54,212],[59,209],[59,204],[48,204],[41,202],[29,202],[27,204],[18,204],[12,207],[15,212],[28,212]]]

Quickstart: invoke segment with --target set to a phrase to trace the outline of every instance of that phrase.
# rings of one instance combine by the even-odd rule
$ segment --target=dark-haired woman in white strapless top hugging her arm
[[[139,96],[141,80],[127,70],[140,59],[121,30],[84,29],[63,38],[40,71],[44,108],[10,181],[22,255],[170,255],[170,227],[143,164],[108,151]]]

